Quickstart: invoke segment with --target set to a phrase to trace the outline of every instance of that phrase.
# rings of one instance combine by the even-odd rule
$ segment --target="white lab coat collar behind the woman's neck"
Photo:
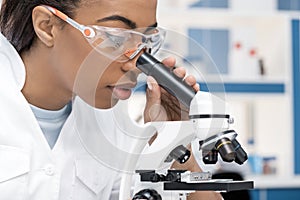
[[[17,88],[21,91],[25,84],[26,71],[25,65],[13,47],[13,45],[0,33],[0,54],[3,54],[11,64],[13,78]]]

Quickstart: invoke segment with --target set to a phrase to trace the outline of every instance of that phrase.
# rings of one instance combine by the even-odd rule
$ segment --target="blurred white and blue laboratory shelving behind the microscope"
[[[203,168],[254,180],[252,200],[300,199],[299,16],[300,0],[159,1],[159,26],[178,33],[164,48],[180,52],[178,63],[189,68],[206,64],[195,44],[204,47],[216,67],[200,68],[201,89],[223,85],[211,92],[224,93],[249,156],[242,166]],[[133,115],[144,98],[134,96],[141,103]]]

